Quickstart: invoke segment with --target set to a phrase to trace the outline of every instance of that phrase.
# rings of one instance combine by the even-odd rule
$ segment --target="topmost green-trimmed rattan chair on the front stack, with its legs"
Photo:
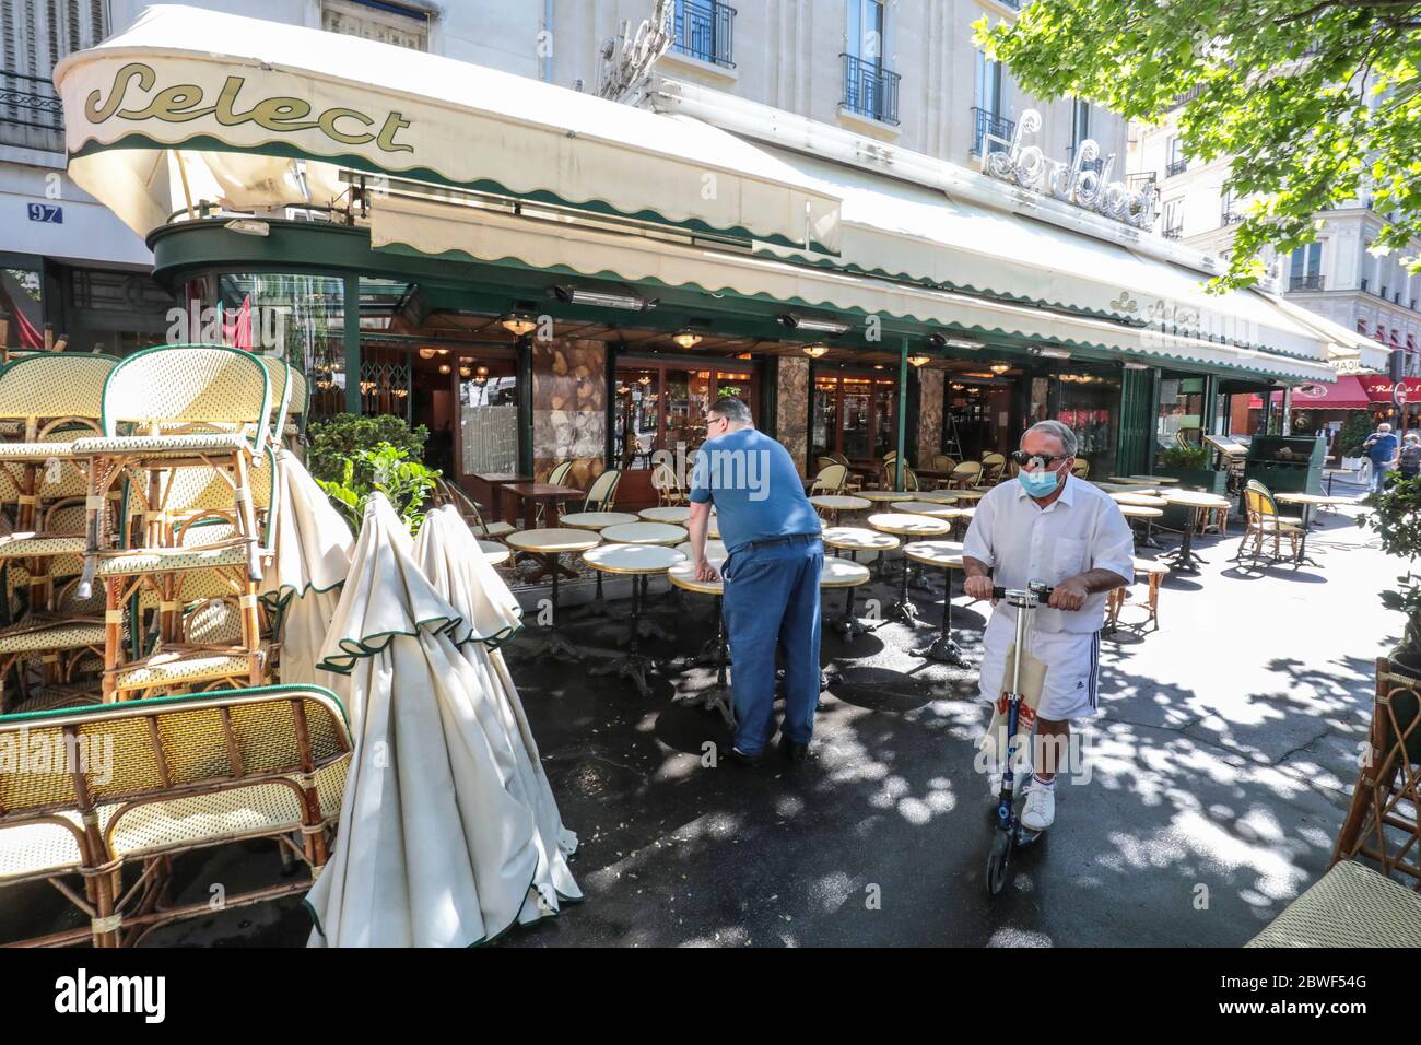
[[[284,425],[286,373],[280,360],[223,345],[148,348],[114,367],[104,385],[104,435],[74,444],[74,452],[88,459],[88,547],[80,594],[88,594],[98,564],[108,491],[125,473],[152,486],[158,473],[179,468],[213,469],[229,483],[249,576],[261,579],[249,472]],[[273,397],[274,382],[280,388]]]

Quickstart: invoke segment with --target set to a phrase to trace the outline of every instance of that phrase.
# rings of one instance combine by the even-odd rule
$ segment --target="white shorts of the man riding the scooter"
[[[996,702],[1006,678],[1006,648],[1016,638],[1016,621],[993,611],[982,636],[982,695]],[[1100,704],[1100,631],[1033,631],[1030,653],[1046,664],[1037,718],[1056,722],[1088,718]]]

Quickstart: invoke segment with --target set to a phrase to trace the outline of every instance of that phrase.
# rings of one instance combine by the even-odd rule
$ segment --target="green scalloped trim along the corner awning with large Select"
[[[665,215],[657,213],[651,209],[644,210],[618,210],[607,200],[588,199],[588,200],[571,200],[558,196],[551,189],[537,189],[533,192],[514,192],[513,189],[502,185],[500,182],[479,178],[473,181],[455,181],[428,166],[406,168],[402,171],[395,171],[389,168],[382,168],[377,164],[369,162],[364,156],[357,156],[352,154],[335,154],[330,156],[323,156],[315,152],[307,152],[306,149],[298,149],[288,142],[266,142],[263,145],[232,145],[222,141],[220,138],[213,138],[207,134],[193,135],[185,138],[180,142],[161,142],[141,131],[129,131],[117,141],[112,142],[97,142],[88,141],[81,145],[75,152],[70,154],[70,159],[82,159],[84,156],[94,155],[97,152],[108,152],[111,149],[192,149],[192,151],[206,151],[206,152],[243,152],[256,156],[280,156],[284,159],[307,159],[317,164],[337,164],[342,166],[350,166],[357,171],[364,171],[367,173],[375,175],[389,175],[391,178],[408,178],[412,182],[429,182],[432,185],[443,185],[450,189],[469,189],[472,192],[492,192],[500,196],[512,196],[513,199],[526,199],[533,203],[551,203],[554,206],[566,206],[574,210],[588,210],[595,215],[604,215],[611,218],[625,218],[637,222],[654,222],[657,225],[669,226],[674,229],[686,229],[689,232],[703,232],[713,236],[730,236],[735,239],[743,239],[746,242],[760,240],[764,243],[776,243],[784,247],[799,247],[803,249],[803,243],[796,243],[794,240],[779,236],[779,235],[764,235],[752,232],[743,226],[733,226],[729,229],[719,229],[708,222],[698,218],[691,218],[685,220],[675,220],[666,218]],[[293,203],[293,206],[298,206]],[[818,242],[810,242],[810,247],[823,250],[824,253],[834,253],[827,246]]]

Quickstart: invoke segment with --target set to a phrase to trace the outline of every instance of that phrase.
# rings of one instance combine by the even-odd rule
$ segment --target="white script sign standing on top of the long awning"
[[[1140,229],[1155,223],[1158,191],[1154,186],[1131,189],[1124,182],[1110,181],[1115,168],[1114,152],[1106,156],[1098,172],[1094,164],[1100,159],[1100,145],[1090,138],[1077,146],[1070,164],[1047,159],[1039,145],[1027,145],[1030,135],[1040,129],[1042,114],[1026,109],[1010,141],[985,134],[982,172]]]

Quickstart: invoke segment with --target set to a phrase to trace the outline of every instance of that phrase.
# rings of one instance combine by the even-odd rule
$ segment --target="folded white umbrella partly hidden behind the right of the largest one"
[[[563,826],[523,701],[496,648],[520,626],[519,601],[452,505],[425,516],[415,559],[435,590],[463,617],[456,634],[463,637],[459,651],[483,684],[479,718],[499,758],[504,786],[533,810],[537,825],[539,869],[533,884],[543,903],[524,907],[520,920],[556,913],[560,900],[583,896],[567,866],[567,857],[577,852],[577,835]]]

